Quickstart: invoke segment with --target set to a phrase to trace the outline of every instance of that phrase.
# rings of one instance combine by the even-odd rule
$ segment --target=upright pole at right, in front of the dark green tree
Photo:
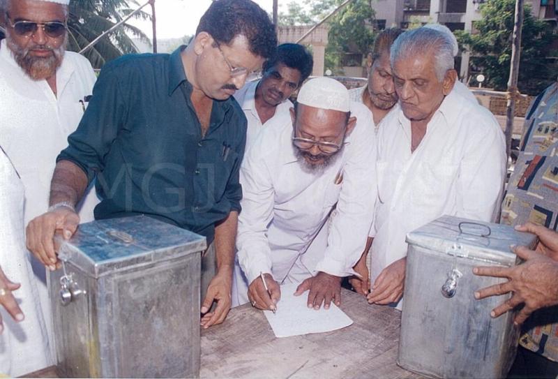
[[[515,101],[519,98],[518,75],[521,53],[521,31],[523,27],[523,0],[515,0],[515,21],[511,46],[510,77],[508,80],[508,106],[506,109],[506,154],[511,155],[511,136],[513,133],[513,117]]]

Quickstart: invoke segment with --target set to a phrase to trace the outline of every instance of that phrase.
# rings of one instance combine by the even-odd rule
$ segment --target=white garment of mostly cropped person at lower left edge
[[[40,309],[36,280],[24,243],[24,189],[8,157],[0,149],[0,267],[21,287],[13,295],[25,319],[15,322],[0,306],[4,330],[0,334],[0,373],[21,376],[51,362],[47,329]]]

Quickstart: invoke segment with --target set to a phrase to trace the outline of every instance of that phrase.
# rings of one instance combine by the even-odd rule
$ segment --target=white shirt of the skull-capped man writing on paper
[[[352,103],[356,126],[338,159],[322,174],[302,170],[292,146],[292,122],[272,119],[241,167],[242,211],[238,259],[251,283],[260,272],[281,281],[324,224],[333,205],[328,245],[314,272],[353,274],[372,221],[376,193],[376,142],[372,114]],[[338,179],[342,175],[342,182]],[[337,183],[336,183],[337,182]],[[310,268],[310,267],[309,267]]]

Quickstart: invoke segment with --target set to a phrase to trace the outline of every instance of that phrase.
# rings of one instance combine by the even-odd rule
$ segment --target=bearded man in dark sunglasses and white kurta
[[[0,0],[0,10],[6,29],[6,39],[0,43],[0,145],[21,176],[27,225],[49,207],[56,156],[80,122],[84,97],[91,95],[96,76],[87,59],[65,51],[68,0]],[[96,202],[91,191],[81,207],[82,221],[93,219]],[[43,309],[52,344],[45,268],[36,260],[32,263],[35,274],[31,278],[38,287],[36,301],[40,301],[37,306]],[[28,301],[33,299],[23,299]],[[33,338],[40,334],[35,330]],[[47,343],[30,342],[29,346],[29,354],[24,354],[27,371],[21,373],[52,363],[50,358],[44,362],[36,355],[47,353]]]

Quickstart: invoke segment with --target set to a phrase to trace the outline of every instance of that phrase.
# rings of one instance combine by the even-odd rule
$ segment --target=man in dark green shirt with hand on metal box
[[[202,288],[202,326],[223,322],[231,304],[246,142],[246,118],[231,95],[276,44],[273,24],[257,4],[218,0],[190,45],[105,65],[80,126],[57,158],[49,211],[27,227],[29,250],[56,267],[54,231],[73,235],[74,207],[96,178],[102,201],[95,218],[146,214],[207,237],[216,273],[209,269],[211,280]]]

